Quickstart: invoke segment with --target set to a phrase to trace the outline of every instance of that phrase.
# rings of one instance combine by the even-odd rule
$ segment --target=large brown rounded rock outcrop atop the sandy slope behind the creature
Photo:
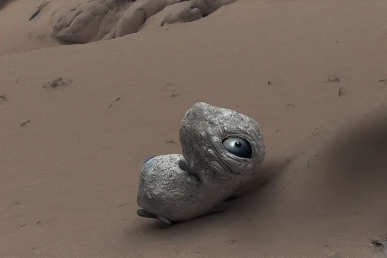
[[[76,0],[52,16],[52,35],[88,43],[167,24],[191,22],[236,0]]]

